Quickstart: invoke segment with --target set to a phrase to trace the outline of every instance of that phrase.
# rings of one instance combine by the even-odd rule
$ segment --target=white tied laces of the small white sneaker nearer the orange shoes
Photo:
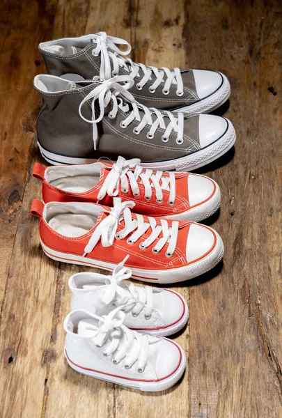
[[[109,285],[102,297],[102,301],[105,304],[112,303],[121,307],[123,312],[132,309],[132,316],[138,316],[143,308],[145,308],[145,318],[150,319],[150,316],[152,315],[152,288],[149,286],[134,286],[133,283],[127,281],[127,279],[132,277],[132,270],[124,265],[128,257],[129,256],[126,256],[125,259],[114,268],[111,276],[102,274],[104,280]],[[122,282],[123,286],[120,286]]]

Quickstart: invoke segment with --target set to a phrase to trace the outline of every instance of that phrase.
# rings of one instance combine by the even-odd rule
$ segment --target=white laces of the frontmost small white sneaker
[[[142,373],[148,359],[149,339],[148,336],[125,327],[124,319],[124,312],[121,311],[121,307],[117,307],[100,320],[98,329],[91,324],[88,324],[87,328],[96,331],[93,341],[97,347],[102,347],[107,343],[103,354],[105,356],[114,354],[114,364],[125,359],[125,368],[130,369],[138,362],[138,371]]]

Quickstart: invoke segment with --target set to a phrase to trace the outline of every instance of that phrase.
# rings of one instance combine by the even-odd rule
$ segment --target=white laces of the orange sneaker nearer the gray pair
[[[106,194],[109,196],[117,196],[120,187],[122,192],[127,193],[129,187],[132,189],[134,196],[139,196],[139,184],[142,183],[145,188],[145,199],[152,198],[152,187],[155,188],[157,203],[163,201],[163,189],[169,189],[169,205],[173,205],[175,201],[175,175],[168,172],[169,176],[163,176],[163,171],[156,171],[146,169],[140,165],[140,160],[134,158],[132,160],[125,160],[123,157],[118,157],[118,160],[113,167],[100,189],[97,196],[98,201],[103,199]],[[132,171],[134,169],[134,172]],[[161,184],[162,182],[162,184]]]

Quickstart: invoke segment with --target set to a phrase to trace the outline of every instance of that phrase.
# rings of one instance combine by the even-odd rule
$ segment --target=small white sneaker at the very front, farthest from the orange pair
[[[120,309],[104,318],[82,310],[68,314],[68,364],[79,373],[142,391],[169,389],[185,371],[184,351],[169,339],[129,330]]]

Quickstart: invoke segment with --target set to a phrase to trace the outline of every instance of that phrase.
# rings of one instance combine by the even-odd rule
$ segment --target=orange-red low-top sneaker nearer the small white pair
[[[192,279],[214,267],[224,254],[219,234],[194,222],[132,213],[134,202],[113,199],[113,208],[95,203],[33,200],[40,217],[40,242],[54,260],[113,270],[120,259],[132,277],[154,283]]]

